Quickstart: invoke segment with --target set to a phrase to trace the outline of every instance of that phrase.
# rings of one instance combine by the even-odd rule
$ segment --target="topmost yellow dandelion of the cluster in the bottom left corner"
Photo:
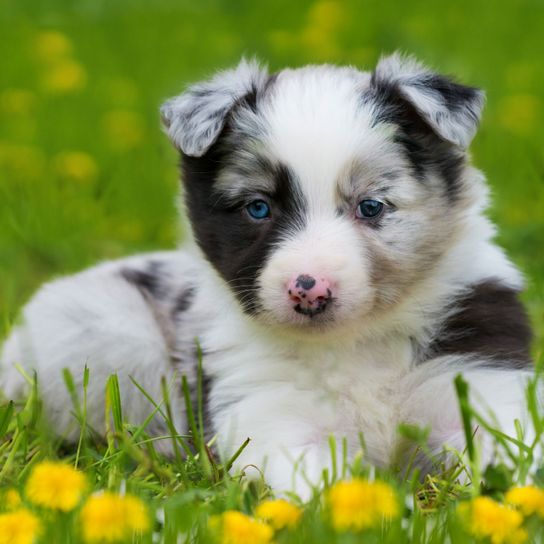
[[[44,461],[34,467],[25,487],[28,500],[38,506],[69,512],[87,488],[85,475],[65,463]]]

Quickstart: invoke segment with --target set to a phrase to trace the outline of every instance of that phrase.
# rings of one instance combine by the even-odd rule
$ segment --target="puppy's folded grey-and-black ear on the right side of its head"
[[[411,57],[382,57],[371,85],[386,94],[396,91],[443,140],[465,149],[476,134],[485,94],[435,74]]]

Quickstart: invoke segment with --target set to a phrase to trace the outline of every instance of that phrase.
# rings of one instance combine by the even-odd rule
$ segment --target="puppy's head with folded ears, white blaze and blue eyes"
[[[373,73],[242,63],[162,108],[198,244],[242,309],[289,328],[388,311],[472,198],[483,94],[411,59]]]

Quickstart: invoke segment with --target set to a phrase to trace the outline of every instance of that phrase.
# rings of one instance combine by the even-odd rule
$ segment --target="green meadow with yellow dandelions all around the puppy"
[[[178,157],[159,123],[165,98],[242,55],[271,70],[371,68],[400,49],[487,92],[473,160],[489,179],[498,241],[526,275],[522,298],[543,362],[543,29],[541,0],[3,0],[0,342],[45,280],[183,240]],[[544,476],[532,471],[527,487],[533,449],[520,442],[497,435],[513,471],[479,467],[475,453],[423,482],[367,466],[362,448],[324,475],[308,505],[273,503],[263,482],[229,476],[229,460],[211,455],[198,413],[188,436],[169,439],[177,455],[166,459],[144,427],[124,421],[115,378],[104,386],[105,443],[85,428],[82,392],[67,407],[82,428],[73,447],[48,429],[37,389],[24,405],[2,401],[0,544],[544,540]],[[528,402],[541,433],[534,390]],[[156,410],[170,419],[167,403]],[[332,455],[342,450],[331,441]],[[44,468],[47,460],[62,464]]]

